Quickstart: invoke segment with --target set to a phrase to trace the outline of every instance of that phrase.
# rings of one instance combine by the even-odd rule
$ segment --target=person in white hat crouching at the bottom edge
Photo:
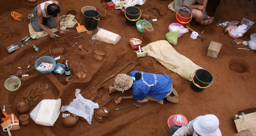
[[[198,116],[187,126],[173,125],[169,129],[170,136],[221,136],[219,120],[213,114]]]

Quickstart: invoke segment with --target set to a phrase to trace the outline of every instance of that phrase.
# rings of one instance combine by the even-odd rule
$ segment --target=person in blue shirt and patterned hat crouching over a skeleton
[[[115,100],[116,104],[123,99],[135,99],[138,102],[163,101],[177,103],[178,93],[172,88],[172,80],[168,75],[153,74],[141,71],[132,71],[129,75],[118,74],[115,77],[114,86],[109,86],[109,93],[130,89],[132,95],[121,96]],[[172,95],[172,96],[169,96]]]

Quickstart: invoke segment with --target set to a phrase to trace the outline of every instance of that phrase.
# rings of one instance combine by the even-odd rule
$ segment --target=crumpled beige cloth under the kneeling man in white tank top
[[[63,18],[64,17],[64,18]],[[60,30],[65,30],[67,27],[74,27],[77,24],[77,20],[74,19],[75,16],[74,15],[62,15],[60,17]],[[49,27],[46,26],[46,28],[49,29]],[[49,29],[52,33],[57,32],[57,28],[54,29]],[[45,31],[42,32],[36,32],[35,29],[32,27],[31,23],[29,23],[29,35],[31,38],[33,39],[38,39],[38,38],[42,38],[46,35],[48,35],[48,33],[46,33]]]

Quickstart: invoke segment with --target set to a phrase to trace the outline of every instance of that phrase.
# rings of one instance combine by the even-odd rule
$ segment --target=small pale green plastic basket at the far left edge
[[[17,88],[15,88],[15,85],[19,85]],[[4,82],[4,87],[9,90],[9,91],[17,91],[21,86],[21,80],[16,78],[16,77],[11,77],[8,78],[5,82]]]

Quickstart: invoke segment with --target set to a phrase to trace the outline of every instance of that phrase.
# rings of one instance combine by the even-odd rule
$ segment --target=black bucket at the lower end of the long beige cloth
[[[196,92],[202,92],[213,83],[213,75],[208,70],[197,69],[194,74],[190,87]]]

